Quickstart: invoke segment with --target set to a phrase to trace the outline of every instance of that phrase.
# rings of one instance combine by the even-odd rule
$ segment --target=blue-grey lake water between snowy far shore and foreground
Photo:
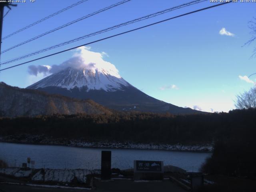
[[[128,169],[133,160],[158,160],[164,165],[178,166],[197,172],[211,153],[174,152],[163,150],[130,150],[80,148],[70,146],[14,144],[0,142],[0,159],[9,166],[21,166],[30,157],[34,168],[100,169],[101,151],[112,151],[112,168]]]

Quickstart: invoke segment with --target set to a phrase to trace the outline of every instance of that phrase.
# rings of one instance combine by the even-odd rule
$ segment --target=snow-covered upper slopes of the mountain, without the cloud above
[[[87,91],[90,90],[105,90],[115,91],[121,90],[122,86],[130,86],[119,74],[116,76],[111,75],[106,69],[102,68],[71,68],[68,67],[57,73],[54,73],[28,88],[37,89],[48,86],[57,86],[66,88],[67,90],[75,87],[86,87]]]

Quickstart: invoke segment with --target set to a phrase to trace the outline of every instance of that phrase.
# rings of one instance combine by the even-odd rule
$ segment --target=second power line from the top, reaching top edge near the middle
[[[34,37],[34,38],[31,38],[31,39],[29,39],[29,40],[26,40],[26,41],[24,41],[24,42],[22,42],[22,43],[20,43],[20,44],[15,45],[15,46],[12,46],[12,47],[10,47],[10,48],[8,48],[8,49],[2,51],[1,54],[4,53],[4,52],[7,52],[7,51],[9,51],[9,50],[12,50],[12,49],[14,49],[14,48],[16,48],[16,47],[18,47],[18,46],[21,46],[21,45],[23,45],[23,44],[26,44],[26,43],[28,43],[28,42],[30,42],[30,41],[36,40],[36,39],[38,39],[38,38],[40,38],[40,37],[42,37],[42,36],[45,36],[45,35],[47,35],[47,34],[49,34],[49,33],[52,33],[52,32],[54,32],[54,31],[60,30],[60,29],[62,29],[62,28],[64,28],[64,27],[66,27],[66,26],[72,25],[72,24],[74,24],[74,23],[76,23],[76,22],[78,22],[78,21],[84,20],[84,19],[86,19],[86,18],[88,18],[88,17],[91,17],[91,16],[94,16],[94,15],[96,15],[96,14],[99,14],[100,12],[104,12],[104,11],[106,11],[106,10],[108,10],[108,9],[111,9],[111,8],[114,8],[114,7],[118,6],[118,5],[124,4],[124,3],[128,2],[128,1],[130,1],[130,0],[122,0],[122,1],[120,1],[120,2],[118,2],[118,3],[116,3],[116,4],[112,4],[112,5],[108,6],[108,7],[105,7],[105,8],[103,8],[103,9],[100,9],[100,10],[98,10],[98,11],[96,11],[96,12],[93,12],[93,13],[91,13],[91,14],[88,14],[88,15],[86,15],[86,16],[84,16],[84,17],[81,17],[81,18],[79,18],[79,19],[76,19],[76,20],[73,20],[73,21],[71,21],[71,22],[68,22],[68,23],[66,23],[66,24],[64,24],[64,25],[62,25],[62,26],[59,26],[59,27],[55,28],[55,29],[52,29],[52,30],[50,30],[50,31],[48,31],[48,32],[45,32],[45,33],[43,33],[43,34],[40,34],[40,35],[38,35],[38,36],[36,36],[36,37]]]

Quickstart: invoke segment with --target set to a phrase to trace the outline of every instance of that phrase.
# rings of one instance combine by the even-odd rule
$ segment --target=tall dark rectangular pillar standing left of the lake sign
[[[111,178],[111,151],[101,152],[101,179]]]

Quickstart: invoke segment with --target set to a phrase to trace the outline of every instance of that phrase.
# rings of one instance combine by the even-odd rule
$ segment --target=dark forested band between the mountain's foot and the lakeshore
[[[0,135],[197,144],[256,136],[256,110],[178,115],[141,112],[0,118]],[[247,141],[247,139],[245,140]]]

